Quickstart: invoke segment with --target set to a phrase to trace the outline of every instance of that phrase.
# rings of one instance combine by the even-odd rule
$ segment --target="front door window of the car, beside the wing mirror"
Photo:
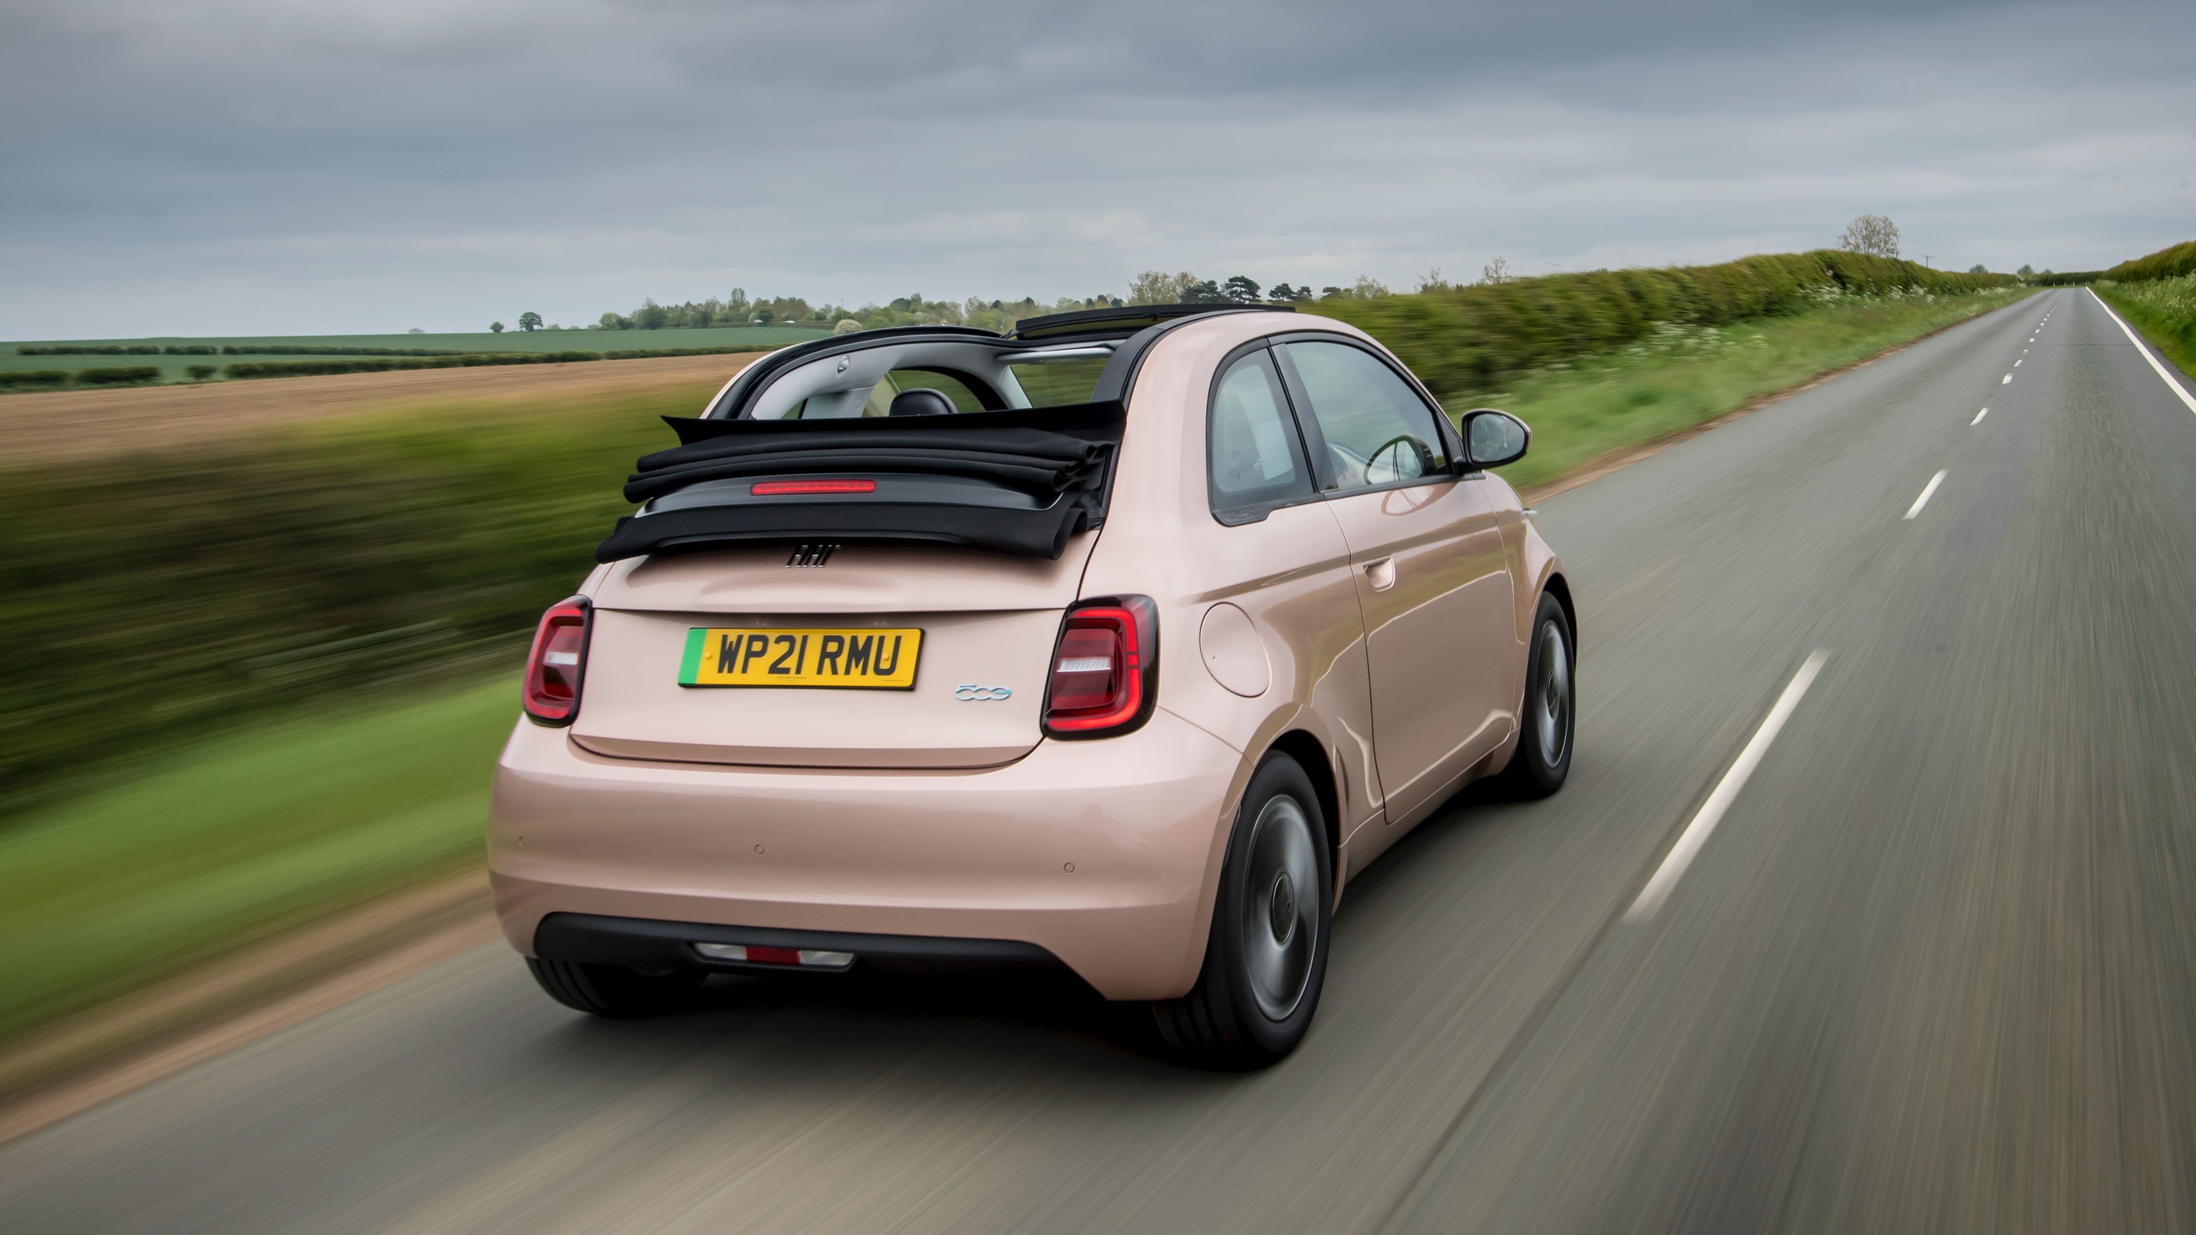
[[[1408,483],[1445,466],[1441,424],[1419,391],[1348,343],[1287,343],[1326,437],[1335,490]]]

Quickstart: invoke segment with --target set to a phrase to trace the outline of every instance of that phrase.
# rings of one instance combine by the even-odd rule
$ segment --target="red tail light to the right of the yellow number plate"
[[[1061,622],[1045,688],[1045,734],[1111,738],[1159,701],[1159,607],[1144,596],[1085,600]]]

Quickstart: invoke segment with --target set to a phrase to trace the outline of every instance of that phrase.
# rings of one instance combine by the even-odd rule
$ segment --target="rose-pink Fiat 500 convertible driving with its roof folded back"
[[[564,1004],[1067,967],[1184,1057],[1304,1035],[1351,875],[1564,785],[1561,567],[1362,332],[1214,305],[773,352],[540,624],[490,870]]]

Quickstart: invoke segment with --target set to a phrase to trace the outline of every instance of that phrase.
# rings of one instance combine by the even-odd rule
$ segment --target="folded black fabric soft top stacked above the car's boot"
[[[971,411],[925,418],[687,420],[663,418],[679,446],[639,459],[628,501],[751,477],[964,477],[1028,494],[997,505],[929,497],[804,494],[755,499],[712,483],[676,508],[617,521],[595,549],[613,563],[672,547],[740,541],[929,541],[1058,558],[1067,538],[1105,521],[1122,404]],[[905,486],[903,486],[905,488]],[[722,497],[712,497],[722,494]]]

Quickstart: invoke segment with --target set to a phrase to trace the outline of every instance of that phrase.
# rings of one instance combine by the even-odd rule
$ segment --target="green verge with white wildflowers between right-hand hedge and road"
[[[1792,316],[1728,327],[1665,325],[1621,352],[1443,402],[1452,415],[1500,407],[1531,424],[1533,453],[1502,468],[1506,481],[1531,488],[2027,294],[2027,288],[1998,288],[1957,297],[1842,297]]]

